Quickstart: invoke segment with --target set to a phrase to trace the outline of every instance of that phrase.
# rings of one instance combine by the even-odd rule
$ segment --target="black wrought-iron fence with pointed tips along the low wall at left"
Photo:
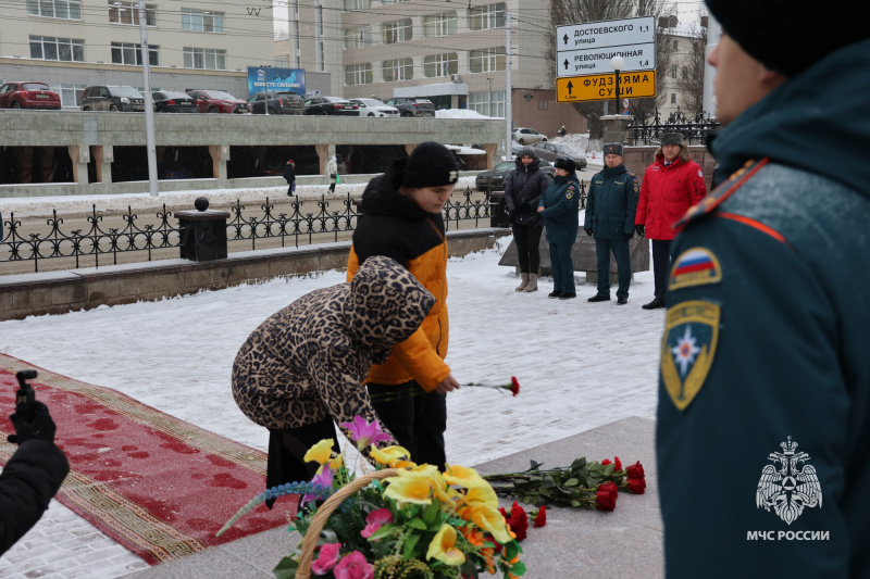
[[[473,196],[483,199],[472,200]],[[455,198],[458,200],[455,201]],[[298,198],[291,202],[293,213],[275,214],[275,206],[269,200],[259,206],[258,214],[248,211],[241,201],[229,207],[231,219],[226,224],[227,241],[250,241],[250,249],[257,249],[257,241],[264,239],[279,239],[281,247],[293,243],[294,247],[312,243],[314,236],[332,234],[335,241],[343,231],[353,231],[362,212],[359,211],[358,201],[350,197],[339,201],[340,211],[330,211],[331,203],[325,197],[313,201],[315,212],[307,212],[311,206]],[[462,222],[473,222],[474,227],[481,226],[481,219],[489,219],[493,214],[493,202],[489,191],[475,192],[471,188],[464,191],[455,191],[453,197],[445,204],[442,215],[445,228],[458,229]],[[117,264],[119,255],[126,252],[147,252],[147,261],[152,260],[156,250],[178,248],[182,240],[183,228],[170,224],[172,213],[163,204],[162,211],[157,213],[157,222],[139,226],[139,217],[128,206],[127,212],[121,215],[124,227],[104,227],[103,215],[97,213],[97,205],[91,206],[91,213],[86,218],[89,227],[87,230],[74,229],[67,232],[62,230],[63,218],[58,216],[57,210],[52,211],[51,218],[47,219],[49,230],[46,234],[26,234],[22,231],[22,222],[15,218],[14,213],[3,221],[5,236],[0,241],[0,263],[33,262],[34,272],[39,272],[39,263],[46,260],[70,259],[75,263],[75,268],[80,267],[83,259],[94,260],[94,265]],[[487,221],[486,226],[489,226]],[[141,261],[141,260],[139,260]]]

